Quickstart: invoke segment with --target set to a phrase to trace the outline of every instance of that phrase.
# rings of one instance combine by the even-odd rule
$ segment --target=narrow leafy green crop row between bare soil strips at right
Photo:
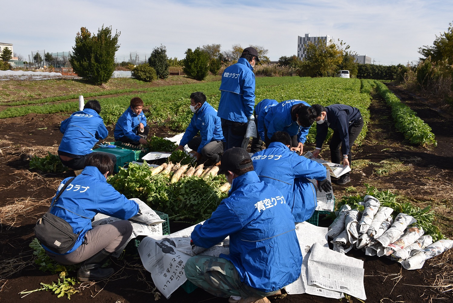
[[[434,133],[431,132],[431,127],[424,123],[424,121],[417,116],[416,112],[402,103],[394,93],[390,92],[385,84],[376,80],[375,83],[378,93],[391,107],[396,129],[402,132],[410,143],[420,144],[422,146],[429,144],[437,146],[437,142],[434,139]]]

